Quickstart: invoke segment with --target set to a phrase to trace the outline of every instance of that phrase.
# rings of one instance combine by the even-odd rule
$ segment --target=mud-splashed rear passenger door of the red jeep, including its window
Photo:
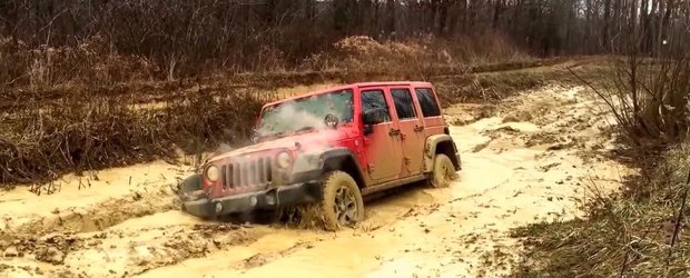
[[[395,116],[401,130],[400,138],[403,149],[402,169],[405,176],[422,172],[424,159],[424,122],[417,111],[410,88],[391,88],[391,97],[395,105]]]

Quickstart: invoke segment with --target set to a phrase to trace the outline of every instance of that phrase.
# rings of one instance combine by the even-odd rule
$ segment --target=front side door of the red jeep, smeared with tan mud
[[[363,112],[383,108],[387,115],[384,122],[373,125],[371,132],[364,136],[369,177],[377,183],[396,179],[401,173],[403,155],[400,130],[391,117],[390,96],[386,96],[384,88],[363,89],[359,96]]]

